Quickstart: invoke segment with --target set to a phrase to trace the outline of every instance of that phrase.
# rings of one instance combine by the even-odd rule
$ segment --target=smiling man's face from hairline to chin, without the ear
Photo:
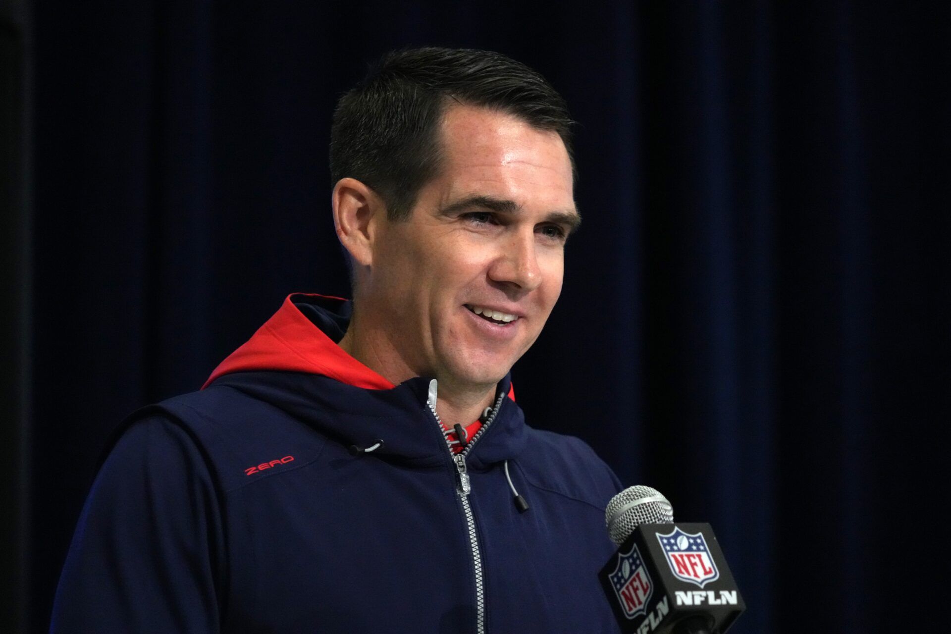
[[[561,293],[578,220],[572,165],[555,132],[473,106],[448,108],[441,147],[410,219],[376,223],[365,297],[414,374],[487,387],[532,346]]]

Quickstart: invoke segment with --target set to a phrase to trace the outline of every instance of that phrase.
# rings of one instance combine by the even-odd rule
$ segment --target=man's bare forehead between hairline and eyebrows
[[[505,112],[456,105],[443,115],[440,149],[443,198],[482,193],[573,207],[572,163],[557,132]]]

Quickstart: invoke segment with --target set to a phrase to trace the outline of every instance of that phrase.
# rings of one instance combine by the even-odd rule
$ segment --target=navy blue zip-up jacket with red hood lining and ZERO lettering
[[[392,386],[343,353],[346,311],[291,296],[202,391],[126,421],[51,631],[618,631],[597,579],[611,470],[526,425],[506,377],[461,493],[437,386]]]

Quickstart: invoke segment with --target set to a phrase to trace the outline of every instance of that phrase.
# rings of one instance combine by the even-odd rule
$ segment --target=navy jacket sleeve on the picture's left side
[[[99,471],[50,632],[217,632],[223,528],[202,452],[175,423],[134,423]]]

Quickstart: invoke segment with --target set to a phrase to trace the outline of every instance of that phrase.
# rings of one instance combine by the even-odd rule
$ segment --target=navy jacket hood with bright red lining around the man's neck
[[[428,398],[431,377],[394,385],[337,344],[350,321],[343,298],[293,294],[258,332],[204,383],[227,386],[295,417],[345,444],[367,447],[377,439],[381,458],[439,464],[450,453]],[[498,399],[499,394],[507,397]],[[469,452],[467,463],[485,469],[522,451],[528,433],[514,403],[511,375],[498,384],[495,418]]]

